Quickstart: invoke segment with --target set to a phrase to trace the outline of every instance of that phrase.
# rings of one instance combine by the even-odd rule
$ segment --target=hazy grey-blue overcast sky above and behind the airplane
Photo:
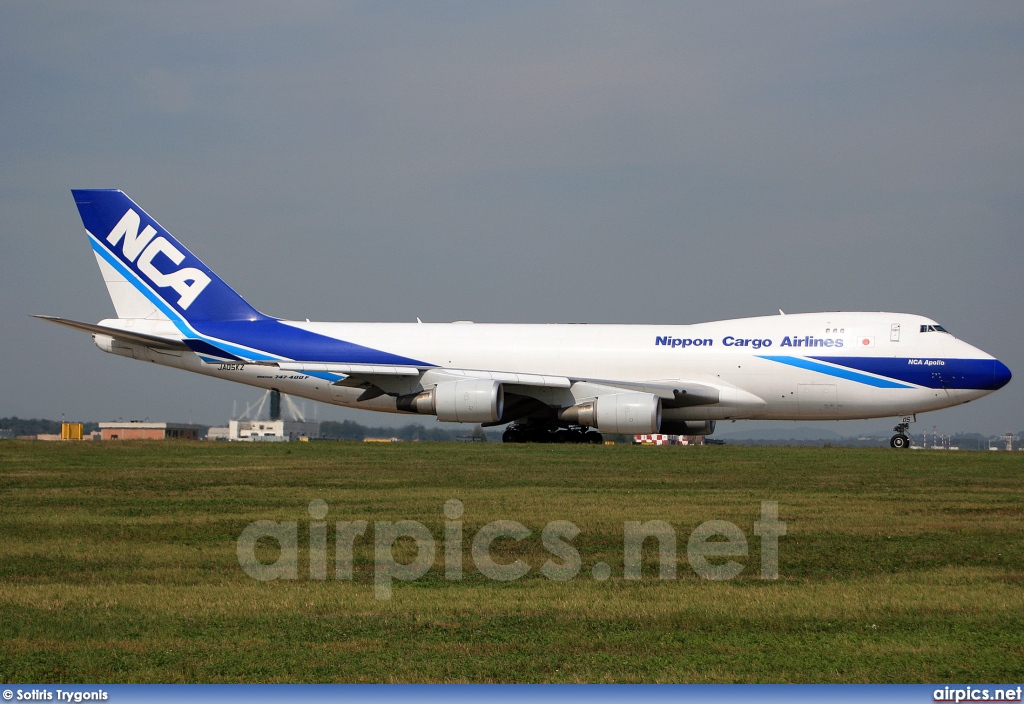
[[[1024,375],[1020,2],[4,2],[0,91],[0,415],[261,393],[28,317],[114,314],[76,187],[283,317],[905,311]]]

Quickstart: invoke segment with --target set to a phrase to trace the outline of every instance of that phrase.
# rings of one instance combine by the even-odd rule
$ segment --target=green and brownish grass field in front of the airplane
[[[445,500],[465,507],[444,579]],[[307,505],[367,520],[354,579],[308,578]],[[1024,457],[1007,452],[361,443],[0,442],[4,681],[986,681],[1024,679]],[[777,581],[754,522],[777,501]],[[236,541],[297,521],[299,579],[256,581]],[[374,598],[375,521],[425,524],[433,569]],[[496,582],[472,536],[532,569]],[[623,578],[626,521],[668,521],[678,578]],[[581,530],[583,571],[539,567],[550,521]],[[729,581],[687,538],[730,521]],[[397,545],[411,559],[407,542]],[[260,543],[272,561],[276,547]],[[718,559],[722,562],[724,559]],[[611,577],[591,576],[597,562]]]

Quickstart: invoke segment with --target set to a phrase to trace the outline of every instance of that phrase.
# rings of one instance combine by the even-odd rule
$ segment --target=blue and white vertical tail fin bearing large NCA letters
[[[124,192],[72,193],[119,317],[185,321],[266,317]]]

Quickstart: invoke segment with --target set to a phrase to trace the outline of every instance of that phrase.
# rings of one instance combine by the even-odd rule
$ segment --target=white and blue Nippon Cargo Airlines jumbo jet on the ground
[[[894,416],[1010,369],[935,320],[822,312],[697,324],[310,322],[249,305],[123,191],[73,190],[117,317],[37,316],[104,352],[352,408],[508,426],[505,442],[710,435],[717,422]]]

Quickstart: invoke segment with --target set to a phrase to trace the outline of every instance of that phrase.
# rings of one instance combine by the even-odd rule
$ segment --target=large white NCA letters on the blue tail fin
[[[139,232],[140,224],[138,213],[129,209],[121,221],[111,230],[111,233],[106,235],[106,241],[116,246],[124,238],[121,252],[124,253],[125,259],[133,262],[140,272],[161,289],[168,287],[174,289],[180,296],[178,305],[182,310],[187,310],[188,306],[196,301],[196,297],[202,294],[203,290],[210,283],[210,277],[190,266],[170,273],[164,273],[158,269],[153,263],[158,254],[162,253],[175,264],[184,261],[185,256],[174,245],[167,241],[166,237],[159,236],[154,239],[153,236],[157,234],[157,230],[153,229],[151,225],[146,225],[145,229]]]

